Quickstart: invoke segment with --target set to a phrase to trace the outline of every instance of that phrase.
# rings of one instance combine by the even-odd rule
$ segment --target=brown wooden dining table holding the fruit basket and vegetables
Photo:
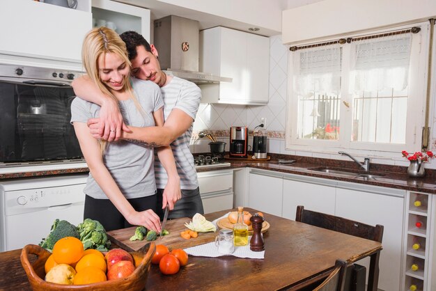
[[[246,208],[251,213],[256,212]],[[213,221],[231,210],[205,214]],[[188,265],[164,275],[157,265],[148,274],[148,290],[298,290],[329,275],[337,259],[356,262],[382,250],[382,244],[264,213],[265,258],[208,258],[189,255]],[[176,221],[173,221],[176,222]],[[185,222],[185,219],[183,219]],[[170,229],[171,231],[171,229]],[[200,234],[199,237],[201,237]],[[212,242],[217,234],[209,235]],[[163,241],[163,239],[162,239]],[[195,242],[194,240],[192,242]],[[192,243],[191,242],[191,243]],[[159,244],[159,241],[157,241]],[[166,244],[178,248],[176,242]],[[0,290],[31,290],[20,262],[21,250],[0,253]],[[377,286],[377,282],[374,284]]]

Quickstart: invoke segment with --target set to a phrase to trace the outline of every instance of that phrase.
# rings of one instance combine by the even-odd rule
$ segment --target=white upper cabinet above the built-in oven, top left
[[[4,1],[0,54],[80,63],[81,44],[92,26],[89,1],[79,1],[78,8],[84,10],[30,0]]]

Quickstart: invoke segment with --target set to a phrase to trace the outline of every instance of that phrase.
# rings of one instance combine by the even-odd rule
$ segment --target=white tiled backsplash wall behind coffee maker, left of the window
[[[191,141],[194,152],[208,152],[208,139],[198,139],[201,131],[212,132],[219,141],[228,143],[229,129],[232,126],[247,126],[249,130],[266,118],[269,136],[269,152],[279,153],[284,149],[286,125],[288,47],[282,45],[281,36],[270,37],[270,86],[269,102],[265,106],[233,104],[200,104],[194,122]],[[249,144],[251,145],[251,139]],[[228,150],[228,145],[227,150]]]

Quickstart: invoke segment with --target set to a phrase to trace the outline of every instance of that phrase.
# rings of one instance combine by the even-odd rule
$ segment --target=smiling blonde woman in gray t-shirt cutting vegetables
[[[128,125],[164,124],[159,87],[151,81],[130,79],[131,64],[125,43],[115,31],[105,27],[90,31],[84,39],[82,63],[95,85],[118,101]],[[100,221],[106,230],[136,225],[160,231],[159,217],[155,214],[153,148],[128,141],[106,143],[94,139],[86,122],[98,117],[99,110],[98,105],[80,98],[75,98],[71,105],[71,122],[90,170],[84,189],[84,217]],[[157,150],[171,176],[166,189],[178,192],[180,198],[180,178],[171,148]]]

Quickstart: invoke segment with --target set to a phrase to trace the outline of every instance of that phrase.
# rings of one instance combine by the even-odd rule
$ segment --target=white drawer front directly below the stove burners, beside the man
[[[201,172],[197,175],[200,194],[233,188],[233,171]]]

